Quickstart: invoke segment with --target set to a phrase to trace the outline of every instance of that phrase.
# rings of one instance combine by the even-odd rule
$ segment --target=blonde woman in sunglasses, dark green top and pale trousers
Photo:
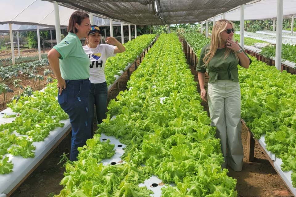
[[[241,143],[241,89],[237,65],[249,68],[252,61],[237,41],[232,41],[233,33],[232,22],[222,19],[215,23],[211,43],[201,50],[196,71],[203,100],[206,100],[205,72],[209,75],[208,105],[211,125],[217,128],[216,137],[221,139],[224,156],[222,168],[228,164],[234,171],[241,171],[244,152]]]

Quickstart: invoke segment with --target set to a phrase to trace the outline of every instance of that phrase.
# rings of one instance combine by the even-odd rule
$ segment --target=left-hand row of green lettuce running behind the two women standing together
[[[124,70],[127,62],[133,62],[142,53],[143,49],[146,49],[151,44],[154,38],[154,34],[142,35],[138,36],[131,43],[126,43],[126,51],[122,53],[123,55],[117,55],[118,57],[115,56],[112,59],[114,65],[108,64],[106,78],[110,79],[114,77],[114,73],[118,74],[118,71]],[[137,47],[140,50],[137,50],[135,53],[134,50]],[[47,59],[42,61],[47,62]],[[35,63],[30,64],[37,65]],[[34,67],[28,66],[28,68]],[[16,66],[1,68],[18,69]],[[110,77],[109,75],[113,76]],[[109,80],[109,83],[113,83],[114,81],[115,79],[113,81]],[[60,120],[68,119],[68,115],[60,108],[56,100],[56,95],[57,88],[55,81],[55,83],[48,84],[44,92],[35,91],[32,97],[21,96],[18,101],[13,100],[7,104],[17,115],[5,115],[3,118],[15,117],[15,119],[12,123],[0,125],[0,174],[12,172],[13,163],[11,161],[9,162],[8,153],[23,158],[33,158],[35,156],[33,142],[43,141],[49,135],[50,131],[56,127],[64,126],[64,123],[60,123]]]

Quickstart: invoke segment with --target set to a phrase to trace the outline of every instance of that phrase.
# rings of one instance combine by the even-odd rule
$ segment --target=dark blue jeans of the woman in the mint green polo
[[[90,132],[90,113],[88,110],[88,95],[90,81],[88,79],[65,80],[66,88],[60,89],[58,102],[61,108],[69,115],[72,126],[72,141],[70,160],[76,161],[78,147],[85,145],[87,139],[92,138]]]

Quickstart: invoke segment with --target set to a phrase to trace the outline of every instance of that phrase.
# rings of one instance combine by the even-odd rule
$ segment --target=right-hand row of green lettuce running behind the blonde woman
[[[185,38],[189,44],[197,42],[190,40],[194,38],[192,35]],[[208,42],[201,34],[196,38]],[[203,44],[195,47],[198,51]],[[283,171],[292,171],[291,179],[296,187],[296,75],[250,58],[249,69],[238,66],[241,117],[257,139],[265,135],[266,149],[282,159]]]

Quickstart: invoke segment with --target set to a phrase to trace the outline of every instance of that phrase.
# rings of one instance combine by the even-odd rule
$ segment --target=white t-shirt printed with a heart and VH
[[[90,58],[89,80],[91,83],[103,83],[105,78],[105,63],[108,57],[115,56],[114,49],[116,46],[109,44],[99,44],[96,48],[83,46],[84,52]]]

